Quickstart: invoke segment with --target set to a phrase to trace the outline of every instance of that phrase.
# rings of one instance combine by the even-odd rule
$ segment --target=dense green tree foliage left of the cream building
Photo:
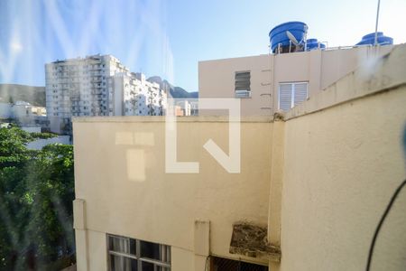
[[[51,136],[0,128],[0,270],[46,269],[74,251],[73,148],[26,148]]]

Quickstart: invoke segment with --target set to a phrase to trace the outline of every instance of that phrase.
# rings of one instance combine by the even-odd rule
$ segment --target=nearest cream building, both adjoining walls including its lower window
[[[203,150],[231,155],[227,117],[179,117],[173,138],[163,117],[74,118],[78,270],[365,269],[406,176],[405,86],[398,45],[276,118],[242,117],[238,173]],[[198,172],[168,171],[171,145]],[[405,203],[400,193],[374,270],[406,265]]]

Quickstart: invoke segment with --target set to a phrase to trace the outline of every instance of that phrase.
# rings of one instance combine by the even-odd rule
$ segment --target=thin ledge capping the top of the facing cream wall
[[[74,123],[88,123],[88,122],[128,122],[128,123],[149,123],[149,122],[165,122],[165,116],[113,116],[113,117],[72,117]],[[234,122],[229,120],[228,116],[187,116],[176,117],[177,122],[218,122],[228,123]],[[258,117],[241,117],[242,123],[271,123],[273,122],[272,116],[258,116]]]

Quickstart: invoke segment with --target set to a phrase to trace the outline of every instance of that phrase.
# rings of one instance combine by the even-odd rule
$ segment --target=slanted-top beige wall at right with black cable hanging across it
[[[405,104],[402,46],[287,114],[281,270],[364,270],[374,229],[406,177]],[[372,270],[404,270],[405,213],[406,191],[383,224]]]

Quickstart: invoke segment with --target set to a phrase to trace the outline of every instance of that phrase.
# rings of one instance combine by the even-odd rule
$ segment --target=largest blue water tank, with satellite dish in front
[[[272,52],[275,52],[279,44],[281,44],[281,46],[290,45],[291,40],[286,34],[287,31],[289,31],[298,42],[304,42],[304,38],[308,32],[308,25],[302,22],[288,22],[273,27],[269,33]]]

